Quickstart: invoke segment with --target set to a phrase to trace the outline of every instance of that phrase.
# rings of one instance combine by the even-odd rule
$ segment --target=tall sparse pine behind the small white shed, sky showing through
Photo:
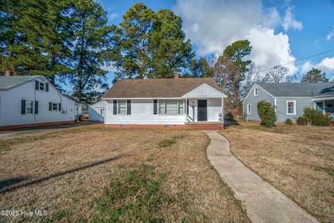
[[[98,93],[95,89],[108,87],[102,66],[109,65],[111,58],[112,29],[106,25],[106,12],[92,0],[75,1],[71,19],[74,41],[70,63],[74,74],[70,82],[79,101],[90,101],[85,94],[94,95]]]

